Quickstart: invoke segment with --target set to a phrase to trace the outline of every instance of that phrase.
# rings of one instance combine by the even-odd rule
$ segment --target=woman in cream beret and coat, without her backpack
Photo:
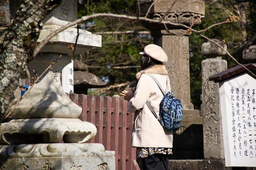
[[[156,82],[146,74],[152,74],[162,88],[166,84],[167,62],[164,50],[155,44],[144,47],[141,55],[141,71],[136,74],[137,85],[133,91],[122,91],[121,97],[129,101],[128,111],[135,112],[132,130],[132,146],[137,147],[137,157],[141,158],[143,170],[168,170],[168,155],[172,155],[173,130],[165,130],[146,105],[150,102],[159,116],[159,104],[163,94]]]

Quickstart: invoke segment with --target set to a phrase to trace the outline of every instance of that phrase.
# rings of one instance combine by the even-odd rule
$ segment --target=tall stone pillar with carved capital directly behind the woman
[[[153,7],[150,9],[150,5]],[[197,26],[204,18],[204,2],[192,0],[141,0],[141,16],[154,20]],[[190,102],[189,35],[186,29],[171,24],[142,22],[151,30],[154,44],[162,46],[168,56],[165,66],[170,77],[172,91],[182,102],[184,110],[193,110]]]

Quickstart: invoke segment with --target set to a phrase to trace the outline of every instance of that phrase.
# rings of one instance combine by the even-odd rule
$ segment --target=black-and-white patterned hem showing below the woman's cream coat
[[[137,148],[137,158],[146,158],[153,154],[173,155],[172,148]]]

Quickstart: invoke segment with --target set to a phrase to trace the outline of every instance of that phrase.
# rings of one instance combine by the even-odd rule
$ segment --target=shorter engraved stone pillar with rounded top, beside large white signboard
[[[214,39],[227,50],[227,45]],[[220,56],[226,52],[213,42],[202,44],[202,116],[204,136],[204,159],[225,159],[220,111],[219,84],[209,81],[211,75],[227,70],[227,61]]]

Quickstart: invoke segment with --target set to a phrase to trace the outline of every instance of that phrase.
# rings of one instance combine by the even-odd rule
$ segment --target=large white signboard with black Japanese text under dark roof
[[[247,73],[220,83],[226,166],[256,167],[256,79]]]

